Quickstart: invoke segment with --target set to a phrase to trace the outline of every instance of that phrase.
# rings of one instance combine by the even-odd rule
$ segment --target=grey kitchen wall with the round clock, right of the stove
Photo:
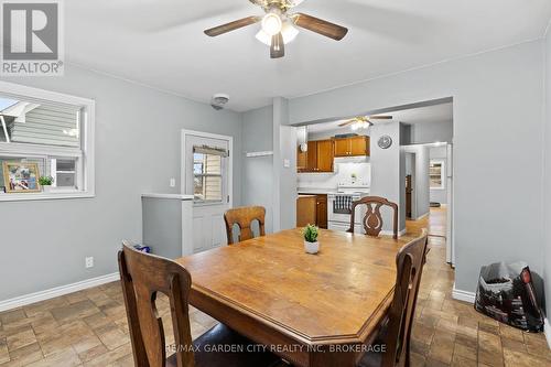
[[[381,136],[392,138],[392,145],[381,149],[377,141]],[[382,196],[398,204],[400,211],[398,230],[406,228],[406,155],[400,150],[400,123],[377,123],[371,127],[371,187],[370,194]],[[381,209],[385,231],[392,230],[392,212],[385,207]]]

